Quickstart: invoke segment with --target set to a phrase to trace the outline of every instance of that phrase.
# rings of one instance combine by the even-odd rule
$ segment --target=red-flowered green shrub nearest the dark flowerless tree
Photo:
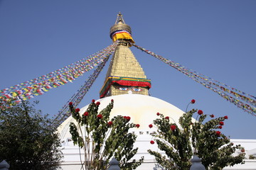
[[[129,123],[129,116],[119,115],[110,120],[113,103],[112,100],[98,113],[100,102],[92,100],[82,115],[79,113],[80,109],[73,108],[70,103],[70,111],[77,121],[77,125],[70,123],[70,134],[74,144],[84,149],[82,167],[85,169],[107,169],[112,157],[120,162],[120,167],[124,170],[136,169],[143,162],[143,157],[138,161],[131,160],[138,148],[133,148],[136,135],[129,130],[139,128],[139,125]]]

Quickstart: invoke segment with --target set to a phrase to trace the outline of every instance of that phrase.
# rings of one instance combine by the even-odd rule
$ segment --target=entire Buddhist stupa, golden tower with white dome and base
[[[178,118],[183,115],[183,111],[176,106],[163,101],[159,98],[149,96],[151,80],[146,75],[130,50],[132,38],[132,29],[122,18],[122,14],[117,15],[117,21],[110,28],[110,38],[115,42],[119,40],[117,50],[114,52],[110,62],[107,75],[105,77],[102,89],[100,89],[100,108],[105,108],[110,101],[114,100],[114,108],[110,118],[116,115],[129,115],[132,123],[138,123],[140,127],[133,132],[137,135],[137,142],[134,147],[139,147],[135,159],[144,156],[144,163],[139,166],[138,170],[161,169],[156,164],[147,149],[157,150],[156,145],[151,145],[151,132],[156,131],[149,128],[149,124],[157,118],[156,113],[162,113],[171,118],[171,121],[178,124]],[[89,105],[80,109],[80,114],[84,113]],[[80,169],[80,152],[78,146],[73,145],[69,132],[69,125],[74,122],[70,116],[59,127],[60,139],[63,145],[63,163],[61,168]]]

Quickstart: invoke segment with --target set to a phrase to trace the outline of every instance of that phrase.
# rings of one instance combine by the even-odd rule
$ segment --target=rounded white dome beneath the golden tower
[[[178,125],[178,119],[183,115],[183,111],[176,106],[163,101],[159,98],[152,96],[145,96],[142,94],[122,94],[118,96],[110,96],[101,98],[97,101],[100,102],[99,112],[106,108],[107,105],[114,100],[114,108],[110,113],[110,119],[117,115],[131,117],[130,122],[139,124],[139,128],[134,131],[149,132],[155,130],[149,129],[149,124],[153,123],[153,120],[159,118],[156,113],[161,113],[165,116],[169,116],[171,122],[175,122]],[[95,102],[97,102],[95,101]],[[89,105],[80,108],[80,114],[84,113]],[[60,139],[66,141],[71,137],[69,132],[69,125],[73,122],[72,116],[66,119],[58,128],[60,133]]]

